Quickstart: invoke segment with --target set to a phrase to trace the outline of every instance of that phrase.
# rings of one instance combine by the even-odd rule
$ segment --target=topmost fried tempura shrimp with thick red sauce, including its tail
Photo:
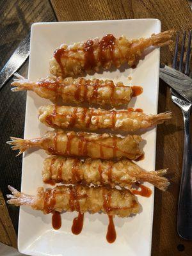
[[[173,30],[164,31],[150,38],[128,40],[125,36],[115,38],[106,35],[73,45],[63,44],[56,49],[50,60],[50,72],[55,76],[74,77],[83,72],[98,72],[102,67],[111,65],[119,68],[122,64],[134,65],[145,49],[150,46],[159,47],[170,44]]]

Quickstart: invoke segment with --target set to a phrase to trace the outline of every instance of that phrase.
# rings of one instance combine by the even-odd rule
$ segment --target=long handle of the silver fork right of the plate
[[[190,108],[182,110],[184,116],[184,152],[177,213],[177,231],[179,236],[188,240],[192,239],[192,151],[189,130]]]

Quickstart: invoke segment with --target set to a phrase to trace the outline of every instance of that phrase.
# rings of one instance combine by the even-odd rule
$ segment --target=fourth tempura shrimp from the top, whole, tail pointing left
[[[141,136],[127,135],[125,138],[111,134],[93,134],[87,132],[65,132],[55,130],[47,132],[42,138],[23,140],[11,137],[8,144],[19,149],[22,154],[31,147],[40,147],[48,154],[58,156],[83,156],[100,159],[127,157],[137,159],[143,153],[140,149]]]

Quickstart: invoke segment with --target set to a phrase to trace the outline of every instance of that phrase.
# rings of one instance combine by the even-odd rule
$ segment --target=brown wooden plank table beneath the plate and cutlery
[[[192,28],[192,14],[186,0],[1,0],[0,2],[0,68],[8,60],[20,40],[27,35],[33,22],[54,20],[106,20],[157,18],[162,29],[174,28],[184,31]],[[111,31],[113,33],[113,31]],[[161,50],[161,62],[171,63],[173,46]],[[28,61],[19,73],[27,75]],[[11,93],[10,82],[1,90],[1,179],[0,188],[5,196],[7,185],[20,189],[22,157],[15,158],[5,145],[12,136],[22,137],[26,93]],[[169,168],[172,185],[162,193],[156,189],[154,225],[152,237],[153,256],[192,255],[192,242],[180,239],[177,234],[177,201],[180,173],[182,170],[183,122],[180,109],[170,99],[170,90],[160,80],[159,112],[171,110],[173,118],[166,125],[157,127],[156,168]],[[1,218],[6,207],[0,196],[0,239],[15,246],[13,226],[17,233],[19,209],[8,205],[12,223]],[[4,214],[2,215],[2,212]],[[10,231],[12,230],[12,231]],[[4,234],[4,235],[2,235]],[[139,243],[139,241],[138,241]]]

